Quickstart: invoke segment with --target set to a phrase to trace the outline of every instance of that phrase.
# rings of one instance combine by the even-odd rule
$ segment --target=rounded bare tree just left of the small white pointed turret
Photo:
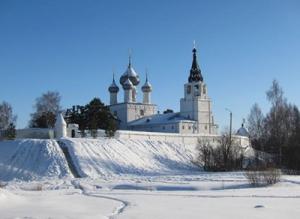
[[[30,127],[53,128],[56,114],[61,110],[61,96],[58,92],[48,91],[36,99],[35,112],[31,114]]]

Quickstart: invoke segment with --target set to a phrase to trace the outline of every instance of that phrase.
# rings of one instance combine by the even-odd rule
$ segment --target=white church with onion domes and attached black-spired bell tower
[[[157,106],[151,102],[152,86],[146,76],[141,87],[143,102],[137,102],[137,89],[140,84],[138,73],[134,70],[131,58],[120,77],[120,87],[124,98],[118,101],[120,91],[115,78],[109,86],[110,111],[119,119],[121,130],[146,132],[165,132],[180,134],[215,135],[218,126],[212,114],[212,102],[203,80],[197,61],[197,50],[193,49],[193,60],[187,83],[184,85],[184,97],[180,99],[180,112],[160,114]]]

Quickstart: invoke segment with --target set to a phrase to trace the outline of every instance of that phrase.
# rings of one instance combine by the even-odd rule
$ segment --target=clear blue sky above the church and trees
[[[194,40],[220,130],[225,108],[235,129],[254,103],[267,112],[273,79],[299,106],[298,0],[0,0],[0,102],[12,105],[18,128],[47,91],[61,94],[63,108],[94,97],[109,104],[112,72],[119,79],[131,50],[158,110],[179,111]]]

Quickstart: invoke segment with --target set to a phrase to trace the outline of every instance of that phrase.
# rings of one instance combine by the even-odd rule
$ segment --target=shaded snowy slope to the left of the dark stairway
[[[0,142],[0,180],[69,176],[67,162],[54,140]]]

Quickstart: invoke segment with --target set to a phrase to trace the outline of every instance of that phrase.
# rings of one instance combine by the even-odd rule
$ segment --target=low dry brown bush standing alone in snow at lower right
[[[280,169],[269,167],[266,169],[253,169],[245,172],[245,177],[253,186],[273,185],[280,181]]]

